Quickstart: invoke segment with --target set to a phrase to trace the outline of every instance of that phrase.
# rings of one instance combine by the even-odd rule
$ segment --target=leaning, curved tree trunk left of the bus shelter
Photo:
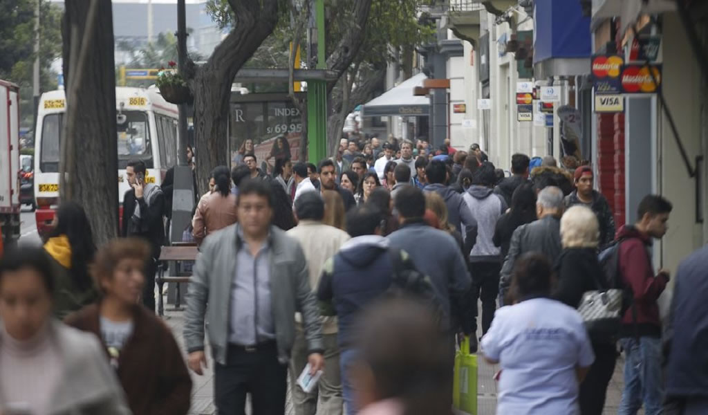
[[[229,0],[234,29],[222,40],[192,82],[198,194],[206,193],[207,177],[216,166],[228,165],[227,126],[231,86],[236,72],[273,33],[279,0]]]

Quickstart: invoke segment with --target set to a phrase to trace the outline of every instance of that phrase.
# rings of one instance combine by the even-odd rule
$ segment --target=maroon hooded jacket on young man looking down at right
[[[624,284],[634,292],[634,303],[622,319],[622,336],[661,336],[661,318],[656,300],[666,288],[668,278],[665,275],[654,276],[649,256],[651,237],[631,225],[624,225],[617,232],[617,239],[624,239],[619,246],[619,272]]]

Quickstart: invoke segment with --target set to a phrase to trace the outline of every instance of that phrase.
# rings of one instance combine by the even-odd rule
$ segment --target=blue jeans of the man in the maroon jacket
[[[646,415],[661,415],[664,397],[661,378],[661,339],[621,339],[624,349],[624,390],[617,415],[636,415],[644,402]]]

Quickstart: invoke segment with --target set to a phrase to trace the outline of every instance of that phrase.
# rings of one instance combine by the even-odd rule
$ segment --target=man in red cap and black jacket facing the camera
[[[598,217],[600,223],[600,250],[609,245],[615,239],[615,217],[612,215],[610,204],[602,193],[593,189],[593,168],[590,166],[580,166],[573,176],[575,190],[566,196],[566,209],[583,205],[590,207]]]

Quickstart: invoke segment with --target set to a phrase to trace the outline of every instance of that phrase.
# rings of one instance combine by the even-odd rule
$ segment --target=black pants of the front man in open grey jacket
[[[251,352],[229,346],[227,364],[215,363],[214,375],[218,415],[245,415],[246,393],[251,394],[253,415],[285,413],[287,365],[278,361],[275,341]]]

